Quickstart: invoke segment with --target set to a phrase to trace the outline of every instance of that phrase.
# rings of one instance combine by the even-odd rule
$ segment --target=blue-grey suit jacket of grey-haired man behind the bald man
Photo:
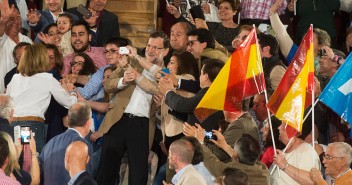
[[[40,156],[40,174],[44,178],[42,182],[50,185],[67,184],[71,179],[69,173],[65,169],[65,152],[69,144],[74,141],[83,141],[88,146],[88,154],[90,156],[87,164],[87,171],[93,172],[93,147],[82,138],[75,130],[67,129],[66,132],[52,138],[43,148]]]

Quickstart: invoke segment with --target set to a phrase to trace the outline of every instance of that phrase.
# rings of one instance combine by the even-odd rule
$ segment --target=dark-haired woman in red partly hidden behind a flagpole
[[[263,154],[260,156],[260,161],[263,162],[266,167],[270,168],[271,164],[274,161],[274,147],[273,147],[273,140],[271,137],[271,132],[270,132],[270,125],[268,120],[264,122],[265,125],[263,127],[263,143],[264,143],[264,148],[263,148]],[[273,127],[273,133],[274,133],[274,141],[275,141],[275,146],[276,149],[282,150],[285,148],[285,145],[279,140],[279,126],[281,125],[281,121],[277,119],[275,116],[271,117],[271,124]]]

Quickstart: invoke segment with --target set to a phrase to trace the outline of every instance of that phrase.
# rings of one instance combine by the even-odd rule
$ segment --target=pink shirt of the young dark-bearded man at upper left
[[[105,54],[103,53],[105,48],[103,47],[89,47],[86,53],[90,58],[92,58],[95,66],[99,69],[103,66],[108,65],[108,61],[106,60]],[[70,53],[64,57],[64,69],[62,70],[62,75],[68,75],[70,72],[71,64],[75,53]]]

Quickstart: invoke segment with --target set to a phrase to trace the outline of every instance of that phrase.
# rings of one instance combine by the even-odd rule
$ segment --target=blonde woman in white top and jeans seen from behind
[[[66,108],[77,102],[77,94],[70,92],[70,85],[61,86],[52,74],[46,72],[48,68],[45,46],[27,46],[18,66],[19,74],[13,76],[6,92],[15,104],[11,125],[29,125],[35,133],[38,152],[45,142],[44,114],[51,95]]]

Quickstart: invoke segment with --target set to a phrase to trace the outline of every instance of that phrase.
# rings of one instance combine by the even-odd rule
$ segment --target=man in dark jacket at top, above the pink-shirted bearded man
[[[78,16],[80,20],[84,20],[89,27],[96,33],[96,45],[104,46],[105,42],[111,37],[120,36],[118,17],[105,10],[107,0],[90,0],[87,2],[87,8],[91,11],[92,16],[86,19],[80,14],[76,8],[70,8],[67,11]]]

